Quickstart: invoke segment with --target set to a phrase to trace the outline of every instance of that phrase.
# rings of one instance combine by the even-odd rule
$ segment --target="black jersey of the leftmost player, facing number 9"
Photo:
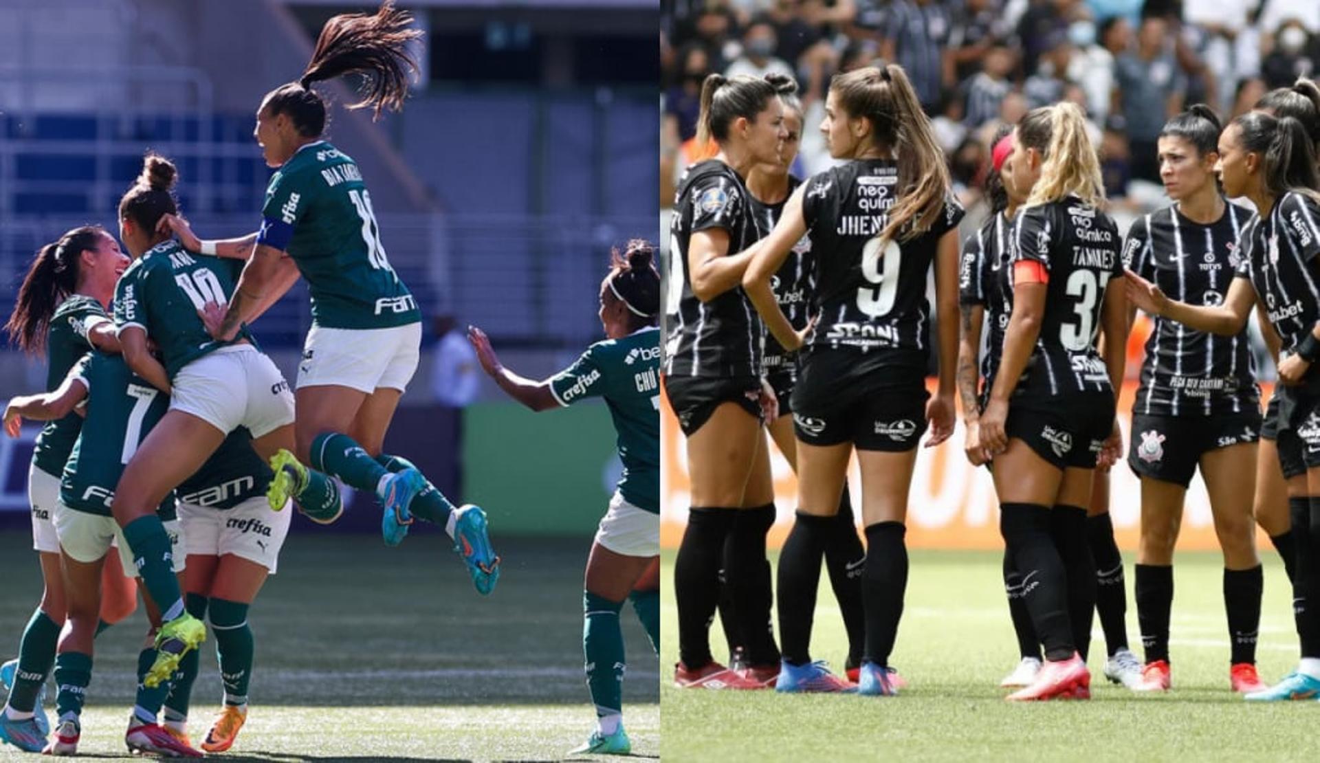
[[[706,160],[678,181],[669,238],[665,314],[665,374],[671,376],[760,376],[762,323],[742,286],[702,302],[692,293],[688,243],[692,234],[723,228],[737,255],[760,238],[747,187],[727,164]]]

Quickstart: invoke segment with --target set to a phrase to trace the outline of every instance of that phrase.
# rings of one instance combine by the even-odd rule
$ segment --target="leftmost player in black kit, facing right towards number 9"
[[[675,198],[664,387],[688,438],[692,481],[692,508],[673,569],[678,686],[763,688],[779,661],[764,574],[775,495],[760,426],[762,329],[739,286],[751,259],[743,249],[760,236],[743,177],[758,164],[779,161],[787,136],[779,82],[706,78],[697,140],[704,145],[714,139],[719,153],[688,168]],[[710,655],[722,565],[738,602],[744,675]]]

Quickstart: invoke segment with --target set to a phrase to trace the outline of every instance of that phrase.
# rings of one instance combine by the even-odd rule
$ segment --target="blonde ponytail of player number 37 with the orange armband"
[[[1023,206],[1044,205],[1067,195],[1076,195],[1094,207],[1105,203],[1100,157],[1086,133],[1086,117],[1076,103],[1031,110],[1018,123],[1018,140],[1044,157],[1040,180]]]

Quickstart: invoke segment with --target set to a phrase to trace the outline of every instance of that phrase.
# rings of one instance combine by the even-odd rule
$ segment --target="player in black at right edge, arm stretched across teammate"
[[[1294,613],[1302,642],[1296,671],[1246,694],[1250,701],[1320,694],[1320,173],[1305,127],[1253,111],[1220,135],[1217,170],[1228,197],[1247,197],[1257,218],[1242,231],[1237,279],[1222,304],[1168,298],[1129,271],[1129,296],[1140,309],[1199,331],[1234,335],[1259,297],[1282,342],[1278,412],[1279,463],[1288,481],[1295,543]],[[1317,496],[1317,498],[1312,498]]]

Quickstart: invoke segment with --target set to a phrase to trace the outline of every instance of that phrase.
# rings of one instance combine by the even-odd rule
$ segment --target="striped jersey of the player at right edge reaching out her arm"
[[[1320,319],[1317,224],[1320,205],[1305,194],[1288,191],[1275,202],[1269,218],[1255,216],[1242,231],[1246,251],[1237,275],[1250,279],[1265,301],[1284,352],[1292,352]]]

